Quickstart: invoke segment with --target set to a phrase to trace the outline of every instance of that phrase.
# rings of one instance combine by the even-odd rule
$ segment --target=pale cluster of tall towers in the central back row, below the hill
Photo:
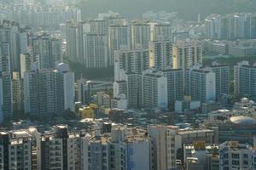
[[[171,25],[146,21],[128,23],[125,17],[113,12],[99,14],[96,20],[67,22],[67,57],[86,68],[114,66],[116,51],[144,51],[144,55],[148,55],[149,41],[152,45],[154,41],[164,42],[163,53],[171,55],[168,51],[170,45],[172,47]]]

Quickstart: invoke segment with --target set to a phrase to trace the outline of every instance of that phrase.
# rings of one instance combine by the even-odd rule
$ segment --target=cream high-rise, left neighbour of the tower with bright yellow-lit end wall
[[[172,42],[152,41],[149,42],[150,67],[157,70],[172,69]]]

